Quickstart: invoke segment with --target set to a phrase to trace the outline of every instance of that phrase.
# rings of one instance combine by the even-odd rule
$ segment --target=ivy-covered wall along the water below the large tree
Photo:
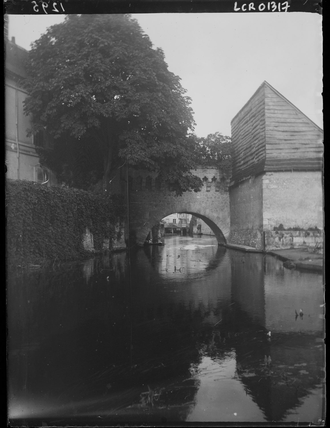
[[[86,256],[86,230],[93,236],[95,253],[118,248],[117,241],[124,238],[126,213],[125,200],[119,195],[7,180],[7,264]]]

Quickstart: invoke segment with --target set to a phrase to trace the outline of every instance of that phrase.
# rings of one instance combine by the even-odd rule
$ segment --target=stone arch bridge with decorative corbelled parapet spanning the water
[[[169,214],[180,212],[201,218],[214,232],[218,244],[226,244],[230,232],[229,179],[215,168],[191,172],[202,179],[202,190],[175,196],[168,184],[158,181],[156,174],[129,169],[128,231],[132,241],[143,245],[152,226]]]

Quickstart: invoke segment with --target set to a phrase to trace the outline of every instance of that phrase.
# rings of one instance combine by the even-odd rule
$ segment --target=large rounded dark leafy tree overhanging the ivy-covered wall
[[[39,155],[67,184],[107,190],[127,162],[158,171],[177,194],[199,190],[190,98],[130,15],[68,15],[33,44],[28,74],[30,134],[54,137]]]

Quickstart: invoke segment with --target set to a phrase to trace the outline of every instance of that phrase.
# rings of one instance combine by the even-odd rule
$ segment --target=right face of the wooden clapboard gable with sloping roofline
[[[266,171],[307,169],[323,166],[323,132],[297,107],[265,86]]]

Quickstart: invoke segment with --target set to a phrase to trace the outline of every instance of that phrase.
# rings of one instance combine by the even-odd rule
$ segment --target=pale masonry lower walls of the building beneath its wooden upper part
[[[323,251],[321,172],[266,172],[229,187],[229,193],[230,243],[258,250]],[[293,228],[300,230],[287,230]],[[319,231],[307,230],[314,228]]]

